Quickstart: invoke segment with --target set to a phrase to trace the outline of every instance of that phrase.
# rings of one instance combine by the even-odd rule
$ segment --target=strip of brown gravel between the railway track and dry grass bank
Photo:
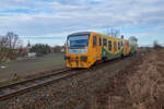
[[[108,61],[79,75],[0,101],[0,109],[90,109],[96,93],[107,86],[108,78],[137,61],[141,55],[144,56],[137,53]]]

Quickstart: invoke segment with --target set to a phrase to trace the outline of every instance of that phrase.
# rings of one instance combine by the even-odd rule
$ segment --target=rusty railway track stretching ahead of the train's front
[[[47,74],[44,76],[28,78],[28,80],[16,82],[10,85],[1,86],[0,87],[0,101],[10,99],[12,97],[16,97],[22,94],[26,94],[42,86],[49,85],[54,82],[58,82],[60,80],[77,75],[79,73],[81,72],[67,69],[67,70],[58,71],[51,74]]]

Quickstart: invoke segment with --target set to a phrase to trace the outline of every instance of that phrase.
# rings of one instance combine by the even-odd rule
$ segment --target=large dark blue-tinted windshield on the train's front
[[[69,36],[68,37],[68,47],[77,48],[77,47],[87,47],[89,45],[89,35],[80,35],[80,36]]]

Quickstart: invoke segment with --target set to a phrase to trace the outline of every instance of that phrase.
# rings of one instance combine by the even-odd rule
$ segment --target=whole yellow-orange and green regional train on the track
[[[70,34],[66,43],[67,68],[91,68],[97,61],[113,60],[134,52],[129,40],[95,32]]]

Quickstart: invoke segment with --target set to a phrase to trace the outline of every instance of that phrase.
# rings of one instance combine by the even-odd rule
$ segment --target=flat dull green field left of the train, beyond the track
[[[0,81],[17,76],[25,76],[47,70],[65,66],[63,53],[52,53],[40,58],[3,63],[8,69],[0,69]]]

